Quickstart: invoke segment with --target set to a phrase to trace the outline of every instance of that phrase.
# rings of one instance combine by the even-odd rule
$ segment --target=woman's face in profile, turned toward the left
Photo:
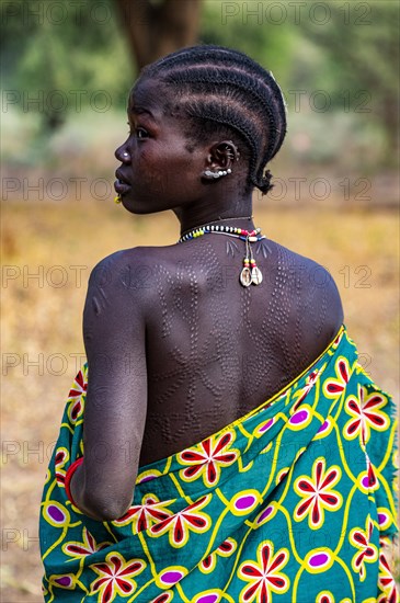
[[[139,81],[129,95],[129,135],[115,151],[122,162],[115,190],[134,214],[172,209],[204,194],[206,146],[190,147],[183,122],[164,110],[167,100],[151,79]]]

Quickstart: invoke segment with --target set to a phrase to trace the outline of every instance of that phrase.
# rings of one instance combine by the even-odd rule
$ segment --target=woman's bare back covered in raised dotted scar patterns
[[[208,236],[135,250],[126,274],[146,320],[147,418],[140,465],[199,442],[279,391],[338,332],[329,273],[263,239],[259,286],[239,283],[243,241]],[[135,294],[136,289],[136,294]]]

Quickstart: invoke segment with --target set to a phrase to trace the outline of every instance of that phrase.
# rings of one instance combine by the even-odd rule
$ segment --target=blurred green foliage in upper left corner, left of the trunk
[[[3,4],[3,91],[18,91],[23,112],[39,111],[50,128],[81,112],[99,91],[124,105],[134,67],[119,30],[111,0],[31,0],[15,2],[12,12]],[[36,105],[27,102],[35,98]]]

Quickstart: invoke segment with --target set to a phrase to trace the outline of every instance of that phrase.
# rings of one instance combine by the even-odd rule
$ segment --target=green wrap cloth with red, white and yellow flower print
[[[87,368],[69,394],[43,494],[45,601],[395,603],[395,412],[342,327],[267,402],[141,467],[129,511],[68,500],[83,454]]]

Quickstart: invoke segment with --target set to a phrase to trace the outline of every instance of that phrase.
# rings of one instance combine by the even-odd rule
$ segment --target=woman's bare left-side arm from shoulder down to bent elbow
[[[93,270],[83,312],[84,500],[114,519],[132,502],[147,409],[146,325],[140,292],[124,278],[126,253]]]

